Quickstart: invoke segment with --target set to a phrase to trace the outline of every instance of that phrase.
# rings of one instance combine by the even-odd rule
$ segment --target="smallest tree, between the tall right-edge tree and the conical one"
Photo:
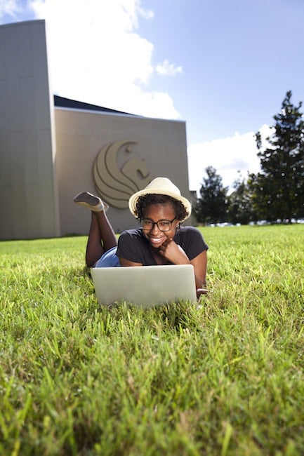
[[[254,220],[251,191],[247,180],[241,176],[234,181],[234,191],[228,196],[228,220],[232,223],[247,224]]]

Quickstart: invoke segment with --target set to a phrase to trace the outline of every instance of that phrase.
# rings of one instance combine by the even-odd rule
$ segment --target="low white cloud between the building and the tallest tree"
[[[260,128],[262,138],[271,134],[270,127],[263,125]],[[187,148],[190,189],[197,192],[201,188],[205,169],[213,166],[223,178],[225,187],[232,187],[238,177],[238,171],[243,177],[249,173],[258,173],[260,159],[254,133],[245,133],[208,142],[189,145]]]

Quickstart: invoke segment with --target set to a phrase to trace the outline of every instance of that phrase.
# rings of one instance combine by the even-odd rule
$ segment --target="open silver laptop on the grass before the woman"
[[[197,301],[192,264],[96,267],[91,275],[98,302],[105,306],[121,301],[140,307]]]

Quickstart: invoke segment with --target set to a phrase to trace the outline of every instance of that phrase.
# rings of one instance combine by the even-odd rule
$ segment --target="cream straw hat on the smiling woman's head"
[[[190,201],[187,200],[187,198],[181,196],[180,189],[178,189],[178,187],[176,187],[176,185],[174,185],[173,182],[171,182],[171,180],[167,177],[156,177],[150,182],[149,185],[147,185],[147,187],[145,187],[145,189],[140,190],[131,196],[131,198],[128,200],[128,208],[131,210],[131,213],[134,215],[134,217],[136,217],[135,210],[138,198],[146,194],[167,195],[171,196],[174,199],[177,199],[183,203],[183,206],[185,206],[185,209],[187,210],[188,215],[184,220],[190,217],[192,210]]]

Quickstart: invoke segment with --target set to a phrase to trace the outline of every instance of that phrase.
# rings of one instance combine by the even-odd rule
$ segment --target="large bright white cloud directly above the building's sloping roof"
[[[140,0],[32,0],[46,19],[53,93],[144,116],[178,119],[173,100],[149,91],[154,46],[136,33],[152,11]]]

